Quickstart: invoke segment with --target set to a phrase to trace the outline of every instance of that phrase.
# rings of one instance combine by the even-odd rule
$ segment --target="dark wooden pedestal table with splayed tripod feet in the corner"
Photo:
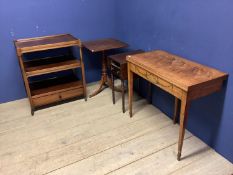
[[[100,86],[95,92],[93,92],[90,95],[90,98],[91,98],[99,94],[102,91],[104,86],[112,87],[111,80],[107,74],[106,51],[124,48],[124,47],[127,47],[128,44],[121,42],[119,40],[110,38],[110,39],[83,42],[83,46],[93,53],[102,52],[102,75],[101,75],[101,80],[100,80]]]

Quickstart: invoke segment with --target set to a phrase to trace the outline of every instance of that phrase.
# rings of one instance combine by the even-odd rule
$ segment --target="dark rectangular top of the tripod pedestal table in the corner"
[[[82,44],[85,48],[87,48],[91,52],[101,52],[111,49],[128,47],[128,44],[112,38],[95,40],[95,41],[86,41],[83,42]]]

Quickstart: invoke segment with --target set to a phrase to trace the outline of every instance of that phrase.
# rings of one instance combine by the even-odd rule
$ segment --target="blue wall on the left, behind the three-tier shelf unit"
[[[113,37],[114,3],[114,0],[0,0],[0,103],[26,97],[13,40],[62,33],[71,33],[82,40]],[[87,80],[97,81],[98,58],[85,58],[85,63]]]

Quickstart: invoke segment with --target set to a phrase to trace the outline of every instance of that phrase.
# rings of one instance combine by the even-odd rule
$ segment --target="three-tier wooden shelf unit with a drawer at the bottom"
[[[19,39],[15,41],[15,47],[32,115],[34,115],[36,108],[55,102],[79,96],[83,96],[87,100],[82,44],[79,39],[70,34]],[[69,47],[79,48],[79,59],[70,53],[54,57],[24,59],[24,55],[28,53],[37,52],[39,54],[42,51]],[[30,81],[31,77],[77,68],[81,69],[81,80],[73,73],[66,76],[57,75],[53,78],[43,78],[40,81]]]

